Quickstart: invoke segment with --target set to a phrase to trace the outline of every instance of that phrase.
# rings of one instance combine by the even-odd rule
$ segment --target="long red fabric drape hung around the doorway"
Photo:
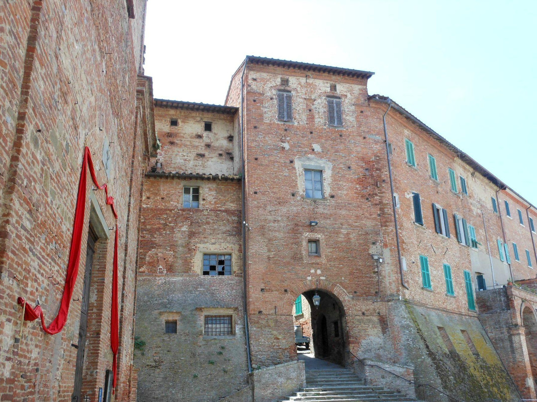
[[[86,181],[88,176],[88,168],[93,184],[100,190],[105,191],[106,204],[111,206],[115,219],[118,219],[118,213],[115,210],[114,198],[108,196],[108,186],[106,184],[100,185],[97,181],[95,174],[95,167],[93,166],[93,160],[91,159],[91,152],[89,147],[84,148],[84,160],[82,162],[82,170],[80,172],[80,179],[78,182],[78,195],[76,198],[75,207],[75,221],[72,227],[71,248],[69,251],[69,262],[67,264],[67,276],[66,282],[63,288],[62,302],[60,309],[50,325],[45,325],[45,315],[41,306],[35,306],[32,308],[27,303],[24,304],[24,298],[19,297],[18,303],[25,306],[24,319],[26,321],[33,321],[37,318],[41,318],[41,327],[47,334],[54,335],[59,333],[67,322],[67,315],[69,313],[69,306],[72,299],[72,292],[75,289],[76,279],[78,276],[78,267],[80,264],[80,254],[82,249],[82,234],[84,229],[84,214],[86,207]],[[118,225],[115,226],[115,241],[114,241],[114,269],[112,279],[112,317],[110,322],[110,344],[112,353],[114,354],[113,371],[114,381],[113,387],[116,384],[116,371],[117,371],[117,354],[119,346],[119,315],[118,315],[118,244],[119,244]]]

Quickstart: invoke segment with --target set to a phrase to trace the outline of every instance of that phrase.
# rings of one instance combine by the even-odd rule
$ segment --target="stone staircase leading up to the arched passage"
[[[352,370],[307,370],[306,387],[281,402],[410,402],[382,386],[365,385]]]

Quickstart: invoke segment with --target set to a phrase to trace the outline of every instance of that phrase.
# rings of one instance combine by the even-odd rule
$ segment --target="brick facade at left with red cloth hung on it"
[[[0,5],[0,400],[110,400],[114,332],[113,398],[136,398],[140,193],[156,150],[152,83],[142,68],[145,14],[145,0]],[[75,221],[85,147],[117,219],[112,199],[88,177]],[[59,312],[61,303],[67,310]],[[24,311],[39,315],[38,304],[43,327],[61,331],[23,321]]]

